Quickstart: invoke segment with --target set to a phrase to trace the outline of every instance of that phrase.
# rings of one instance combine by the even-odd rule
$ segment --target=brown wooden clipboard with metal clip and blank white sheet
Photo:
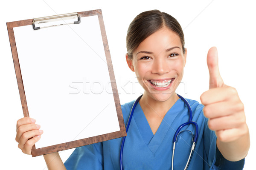
[[[55,141],[55,139],[57,140],[63,136],[76,136],[72,137],[71,140],[63,139],[65,142],[41,144],[39,147],[37,147],[39,144],[36,143],[32,147],[33,157],[126,136],[100,9],[20,20],[6,24],[23,115],[24,117],[31,116],[33,118],[41,116],[46,119],[43,124],[49,125],[44,127],[41,125],[43,130],[55,123],[52,130],[47,132],[44,130],[39,141],[51,132],[53,132],[52,136],[48,137],[45,143]],[[87,29],[90,30],[89,33],[86,31]],[[41,32],[39,32],[40,30]],[[87,34],[80,35],[79,30],[81,33]],[[54,33],[49,33],[49,31]],[[38,34],[41,36],[39,36],[40,38],[37,38]],[[49,36],[49,34],[52,35]],[[75,42],[71,42],[73,37],[76,37]],[[48,41],[45,42],[42,39]],[[57,43],[49,45],[55,40],[59,40],[61,45]],[[48,50],[52,51],[47,52]],[[88,55],[86,55],[87,52]],[[52,75],[55,76],[52,77]],[[97,78],[97,76],[99,77]],[[66,80],[66,77],[71,80]],[[75,78],[72,79],[72,77]],[[105,79],[104,82],[101,82],[102,79]],[[58,80],[61,81],[59,85],[61,87],[55,87]],[[63,90],[64,92],[59,91],[59,88],[62,89],[62,84],[65,84],[64,88],[67,89],[66,91]],[[44,88],[48,86],[49,90],[44,91]],[[102,86],[104,87],[102,88]],[[37,87],[40,87],[40,89]],[[87,91],[88,88],[86,87],[90,87],[90,91]],[[52,91],[51,88],[54,90]],[[51,94],[48,94],[48,91],[51,91]],[[59,97],[62,93],[66,95],[67,99],[60,102],[62,100],[60,98],[65,99],[65,96]],[[80,96],[81,100],[77,96]],[[73,106],[70,106],[70,103]],[[46,113],[48,112],[50,116],[49,114],[47,116]],[[78,112],[79,116],[85,116],[86,119],[74,116],[75,112]],[[40,119],[37,118],[37,122],[40,122]],[[67,123],[61,128],[58,127],[58,123],[64,122],[64,120]],[[82,123],[78,123],[79,121],[82,121]],[[84,123],[86,121],[87,123]],[[75,124],[69,125],[69,122],[75,122]],[[79,127],[80,124],[84,125]],[[66,126],[68,129],[74,126],[80,129],[77,132],[71,131],[71,133],[66,129],[64,135],[61,135],[61,129],[66,128]],[[57,131],[55,127],[58,127]],[[97,132],[94,133],[94,131]]]

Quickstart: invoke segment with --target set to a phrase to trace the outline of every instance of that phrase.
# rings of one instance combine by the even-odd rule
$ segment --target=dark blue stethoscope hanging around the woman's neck
[[[177,95],[178,95],[178,94],[177,94]],[[141,98],[142,96],[143,96],[143,95],[141,95],[140,97],[138,97],[138,99],[136,99],[135,102],[134,102],[134,104],[132,105],[131,112],[130,112],[130,116],[129,116],[129,118],[128,118],[128,122],[127,122],[127,125],[126,125],[126,133],[128,133],[128,129],[129,129],[129,126],[130,126],[130,123],[131,123],[131,118],[132,118],[132,116],[133,116],[134,109],[135,109],[137,103],[139,102],[139,100],[140,100],[140,98]],[[192,153],[193,153],[193,151],[195,150],[195,143],[197,142],[197,139],[198,139],[198,125],[197,125],[196,122],[192,121],[192,110],[191,110],[191,107],[190,107],[190,105],[189,105],[189,102],[187,102],[186,99],[184,99],[182,96],[180,96],[180,95],[178,95],[178,96],[180,97],[180,99],[183,100],[183,102],[185,102],[186,106],[187,106],[188,109],[189,109],[189,121],[186,122],[186,123],[183,123],[182,125],[180,125],[180,126],[178,127],[178,129],[176,130],[176,132],[175,132],[175,135],[174,135],[174,138],[173,138],[173,149],[172,149],[172,150],[173,150],[173,151],[172,151],[172,170],[174,170],[174,168],[173,168],[173,159],[174,159],[175,144],[176,144],[176,141],[177,141],[177,136],[179,135],[180,132],[183,131],[183,130],[182,130],[182,131],[180,131],[180,130],[181,130],[184,126],[189,125],[189,124],[192,124],[192,125],[195,125],[195,137],[193,136],[192,131],[188,130],[188,131],[190,131],[190,132],[192,133],[192,142],[193,142],[193,144],[192,144],[192,147],[191,147],[191,151],[190,151],[190,154],[189,154],[188,161],[187,161],[186,166],[185,166],[185,168],[184,168],[184,170],[186,170],[187,167],[189,166],[189,162],[190,162],[190,160],[191,160],[191,158],[192,158]],[[120,170],[122,170],[122,155],[123,155],[123,150],[124,150],[125,138],[126,138],[126,136],[124,136],[124,137],[122,138],[121,148],[120,148],[120,154],[119,154],[119,162],[120,162],[119,166],[120,166]]]

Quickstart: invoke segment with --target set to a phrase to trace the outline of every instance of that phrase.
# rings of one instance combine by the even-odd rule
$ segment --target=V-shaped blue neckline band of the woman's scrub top
[[[160,144],[162,143],[163,139],[165,138],[167,132],[170,128],[172,128],[172,122],[177,116],[180,111],[184,108],[184,102],[181,99],[178,99],[175,104],[170,108],[170,110],[164,116],[160,126],[157,129],[157,132],[153,134],[148,121],[145,117],[145,114],[140,107],[140,103],[137,104],[134,110],[134,120],[137,124],[137,127],[140,131],[140,135],[142,136],[145,144],[154,154]],[[173,130],[175,133],[175,130]]]

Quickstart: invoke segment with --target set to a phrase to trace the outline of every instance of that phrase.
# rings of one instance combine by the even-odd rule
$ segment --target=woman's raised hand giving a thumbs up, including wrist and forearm
[[[218,68],[217,48],[207,54],[209,90],[200,99],[208,127],[215,131],[217,147],[230,161],[238,161],[247,155],[250,137],[245,122],[244,105],[235,88],[224,84]]]

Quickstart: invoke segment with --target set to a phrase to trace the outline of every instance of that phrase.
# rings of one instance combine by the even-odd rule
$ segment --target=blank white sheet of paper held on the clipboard
[[[36,148],[120,130],[98,16],[14,33]]]

